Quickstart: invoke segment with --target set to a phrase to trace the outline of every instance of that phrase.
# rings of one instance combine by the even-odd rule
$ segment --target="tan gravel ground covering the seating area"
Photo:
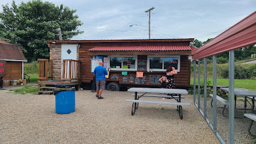
[[[76,111],[59,115],[54,95],[13,94],[8,91],[11,88],[0,90],[1,143],[219,143],[194,106],[192,95],[184,95],[182,101],[191,105],[183,106],[181,120],[176,106],[159,104],[139,104],[132,116],[132,103],[125,102],[133,99],[132,92],[103,91],[104,99],[98,100],[95,92],[76,91]],[[228,125],[227,118],[218,118]],[[247,123],[241,130],[243,136],[236,133],[236,143],[253,143],[247,132],[249,121],[242,120]],[[236,131],[243,127],[236,124]],[[228,135],[228,128],[222,131]]]

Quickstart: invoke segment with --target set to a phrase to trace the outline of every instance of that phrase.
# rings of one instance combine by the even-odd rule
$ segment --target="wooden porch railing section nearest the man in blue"
[[[79,80],[81,63],[73,59],[63,59],[62,80]]]

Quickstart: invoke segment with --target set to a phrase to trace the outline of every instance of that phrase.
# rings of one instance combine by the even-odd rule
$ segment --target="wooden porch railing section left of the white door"
[[[52,77],[52,59],[37,59],[39,63],[38,80],[53,79]]]

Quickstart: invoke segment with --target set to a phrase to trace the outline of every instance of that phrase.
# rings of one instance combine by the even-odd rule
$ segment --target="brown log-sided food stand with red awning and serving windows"
[[[77,59],[81,62],[81,82],[91,85],[94,68],[103,61],[109,71],[106,89],[119,91],[121,87],[160,87],[159,79],[166,75],[166,68],[172,65],[177,70],[177,88],[190,86],[190,59],[195,51],[189,39],[151,39],[151,40],[48,40],[50,54],[62,47],[75,47]],[[72,51],[72,50],[71,50]],[[59,53],[68,53],[65,49]],[[58,64],[55,55],[53,67]],[[60,65],[59,65],[60,66]],[[53,77],[54,70],[53,68]],[[60,72],[59,72],[60,73]]]

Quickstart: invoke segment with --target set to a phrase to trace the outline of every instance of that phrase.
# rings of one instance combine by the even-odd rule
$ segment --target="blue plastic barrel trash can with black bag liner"
[[[75,88],[70,84],[55,85],[55,110],[58,114],[75,112]],[[57,92],[56,92],[57,91]]]

